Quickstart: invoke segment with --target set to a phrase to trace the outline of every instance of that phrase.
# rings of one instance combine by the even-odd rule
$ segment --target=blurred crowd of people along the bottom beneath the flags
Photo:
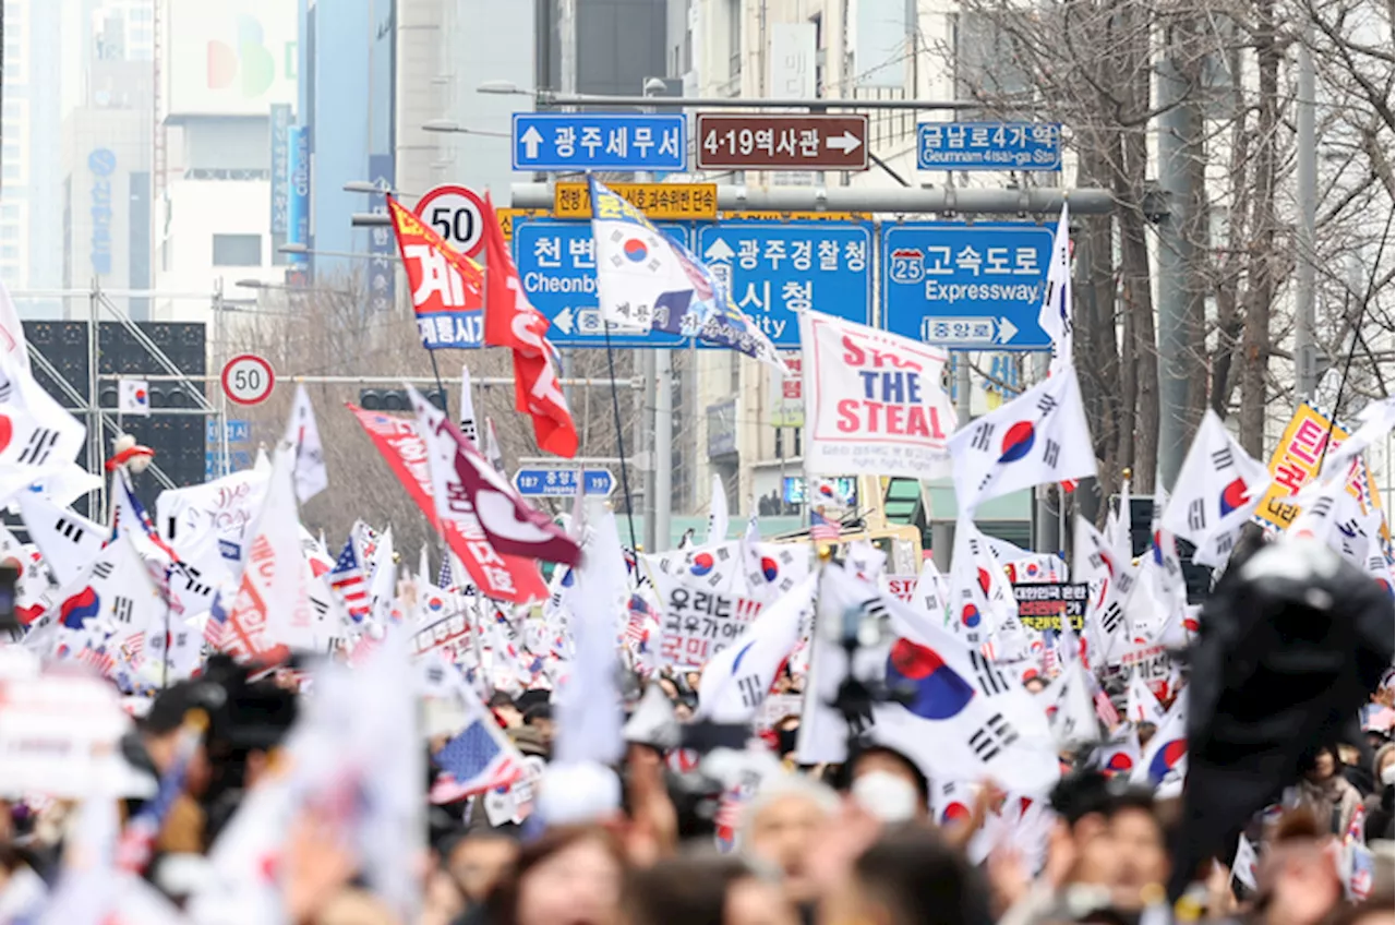
[[[172,915],[184,908],[188,921],[201,921],[191,900],[214,876],[209,850],[248,794],[274,775],[302,700],[314,696],[313,687],[297,693],[302,676],[258,676],[214,658],[201,676],[158,693],[123,739],[130,767],[161,780],[180,762],[190,717],[207,720],[180,787],[161,813],[149,864],[137,868],[173,901]],[[642,687],[681,714],[695,706],[697,680],[692,672],[663,672],[634,693]],[[778,686],[789,693],[799,680],[783,672]],[[1090,767],[1090,749],[1062,755],[1069,770],[1044,801],[1050,824],[1040,850],[1033,836],[1019,831],[1020,838],[1001,838],[986,851],[976,841],[1007,799],[991,781],[960,812],[937,813],[934,782],[893,749],[864,743],[839,766],[797,764],[799,717],[787,715],[748,745],[773,763],[736,805],[706,778],[701,756],[666,752],[637,736],[628,736],[618,769],[618,810],[549,824],[525,808],[522,822],[491,824],[486,795],[433,805],[426,816],[429,850],[419,865],[417,921],[1375,925],[1396,911],[1393,699],[1396,676],[1362,711],[1362,735],[1314,749],[1304,777],[1242,833],[1238,852],[1245,857],[1215,858],[1198,871],[1198,889],[1177,904],[1166,900],[1163,886],[1174,857],[1177,798]],[[644,701],[644,694],[632,699],[632,715]],[[551,756],[557,729],[546,692],[496,693],[489,710],[522,755]],[[431,764],[438,748],[427,748],[430,778],[440,771]],[[124,801],[127,827],[159,799],[165,796]],[[43,884],[61,880],[73,864],[66,854],[77,824],[73,809],[66,802],[17,801],[0,815],[0,921],[38,921],[27,918],[27,910]],[[1360,903],[1351,901],[1337,861],[1354,837],[1375,861]],[[315,813],[293,819],[276,872],[285,921],[408,925],[364,887],[364,871],[353,858]]]

